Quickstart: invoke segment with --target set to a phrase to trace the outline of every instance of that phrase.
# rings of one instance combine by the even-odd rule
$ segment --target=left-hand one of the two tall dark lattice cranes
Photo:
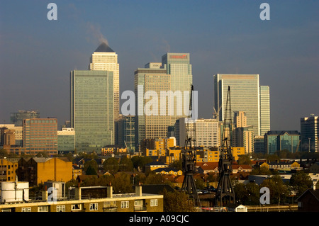
[[[186,118],[186,137],[185,145],[183,150],[183,171],[184,171],[184,181],[181,185],[181,191],[186,192],[189,195],[189,199],[193,200],[196,207],[201,207],[201,202],[198,197],[195,181],[194,172],[196,164],[196,123],[191,119],[193,110],[192,95],[194,91],[194,86],[191,85],[191,96],[189,101],[189,110],[191,114]]]

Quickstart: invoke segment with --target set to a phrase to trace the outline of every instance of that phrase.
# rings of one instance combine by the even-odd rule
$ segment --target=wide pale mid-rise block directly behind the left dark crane
[[[177,138],[177,145],[184,147],[186,127],[189,126],[189,130],[196,127],[196,145],[203,147],[218,147],[219,146],[219,122],[216,119],[203,119],[198,118],[194,123],[187,123],[186,118],[180,118],[176,120],[175,131]]]

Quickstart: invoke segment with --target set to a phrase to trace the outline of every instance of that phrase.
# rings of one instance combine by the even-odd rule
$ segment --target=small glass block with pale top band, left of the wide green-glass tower
[[[62,128],[57,131],[57,152],[59,154],[74,153],[75,132],[74,128]]]

